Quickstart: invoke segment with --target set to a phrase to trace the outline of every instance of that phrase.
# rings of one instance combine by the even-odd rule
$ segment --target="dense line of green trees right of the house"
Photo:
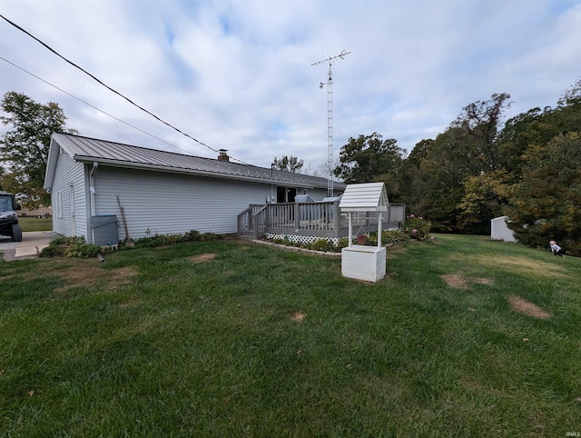
[[[427,217],[434,232],[489,234],[490,219],[507,215],[519,242],[556,240],[581,254],[581,79],[555,107],[502,124],[510,105],[507,93],[467,105],[407,156],[378,133],[350,138],[334,174],[385,182],[389,200]]]

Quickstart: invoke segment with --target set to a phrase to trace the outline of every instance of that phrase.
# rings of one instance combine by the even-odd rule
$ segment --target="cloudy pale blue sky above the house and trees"
[[[341,51],[335,157],[373,132],[411,151],[494,93],[512,96],[508,116],[555,106],[581,76],[579,0],[2,0],[0,14],[164,122],[265,167],[326,163],[329,64],[312,64]],[[217,156],[4,19],[0,57],[2,95],[58,103],[79,134]]]

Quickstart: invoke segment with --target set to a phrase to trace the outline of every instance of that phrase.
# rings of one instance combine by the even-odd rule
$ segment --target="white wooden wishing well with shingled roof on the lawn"
[[[339,204],[349,221],[349,246],[341,251],[341,274],[348,278],[378,282],[385,276],[386,249],[381,246],[382,214],[388,211],[388,194],[384,183],[349,184]],[[351,226],[354,214],[378,215],[378,244],[353,244]]]

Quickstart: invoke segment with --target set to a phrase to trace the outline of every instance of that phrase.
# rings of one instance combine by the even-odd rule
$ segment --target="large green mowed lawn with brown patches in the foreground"
[[[581,432],[581,260],[475,236],[388,278],[237,241],[0,262],[4,436]]]

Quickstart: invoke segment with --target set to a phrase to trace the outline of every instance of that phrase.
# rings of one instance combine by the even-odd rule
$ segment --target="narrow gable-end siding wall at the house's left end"
[[[88,217],[84,181],[84,165],[61,152],[51,190],[55,233],[86,237]],[[72,200],[74,205],[71,204]]]

